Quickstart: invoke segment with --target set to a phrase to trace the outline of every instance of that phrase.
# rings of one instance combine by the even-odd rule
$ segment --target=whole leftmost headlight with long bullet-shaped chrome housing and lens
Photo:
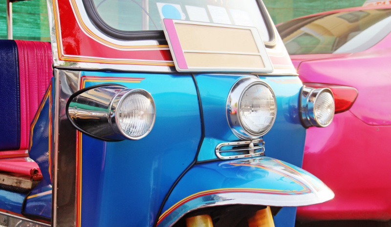
[[[101,84],[74,93],[66,114],[89,136],[105,141],[138,140],[152,130],[155,103],[146,90]]]

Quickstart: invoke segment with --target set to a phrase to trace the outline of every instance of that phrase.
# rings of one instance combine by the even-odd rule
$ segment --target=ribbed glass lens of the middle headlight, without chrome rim
[[[239,102],[239,119],[245,130],[261,135],[269,129],[275,118],[275,101],[271,90],[256,83],[249,86]]]

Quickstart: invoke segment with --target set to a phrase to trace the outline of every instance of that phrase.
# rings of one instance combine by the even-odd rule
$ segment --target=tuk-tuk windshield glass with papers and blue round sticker
[[[121,31],[162,30],[161,19],[257,27],[270,41],[257,0],[93,0],[100,18]]]

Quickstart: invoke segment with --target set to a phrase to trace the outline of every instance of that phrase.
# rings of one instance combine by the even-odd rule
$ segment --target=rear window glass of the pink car
[[[348,11],[287,21],[277,30],[288,53],[354,53],[391,32],[391,9]]]

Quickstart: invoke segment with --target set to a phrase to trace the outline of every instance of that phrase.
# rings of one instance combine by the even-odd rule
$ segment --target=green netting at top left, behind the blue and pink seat
[[[7,39],[7,5],[0,1],[0,39]],[[50,41],[45,0],[12,3],[14,40]]]

